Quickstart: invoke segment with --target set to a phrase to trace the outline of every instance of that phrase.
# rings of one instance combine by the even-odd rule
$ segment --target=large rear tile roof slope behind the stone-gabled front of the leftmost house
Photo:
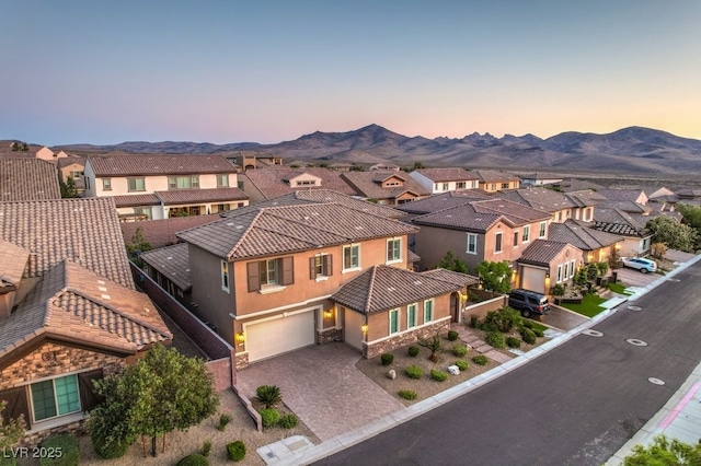
[[[112,198],[0,202],[0,238],[32,253],[25,277],[69,259],[134,289]]]

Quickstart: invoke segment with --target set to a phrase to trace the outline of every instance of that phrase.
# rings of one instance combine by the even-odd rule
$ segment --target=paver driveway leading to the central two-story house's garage
[[[329,440],[404,408],[355,368],[358,359],[345,343],[313,346],[251,364],[238,385],[249,398],[261,385],[277,385],[299,419]]]

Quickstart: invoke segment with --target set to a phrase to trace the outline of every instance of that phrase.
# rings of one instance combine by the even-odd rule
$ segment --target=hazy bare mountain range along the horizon
[[[347,132],[304,135],[276,144],[238,142],[123,142],[115,145],[71,144],[56,149],[80,152],[244,153],[275,155],[286,161],[314,163],[392,162],[426,166],[509,167],[513,170],[571,170],[587,172],[701,173],[701,140],[656,129],[630,127],[607,135],[567,131],[541,139],[533,135],[474,132],[463,138],[407,137],[378,125]]]

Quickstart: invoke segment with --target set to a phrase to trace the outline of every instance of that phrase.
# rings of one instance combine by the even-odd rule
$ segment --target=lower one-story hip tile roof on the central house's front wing
[[[437,277],[378,265],[341,287],[331,299],[354,311],[372,314],[458,291],[464,287],[455,283],[455,277],[450,280]],[[466,282],[470,280],[476,281],[474,277],[466,276]]]

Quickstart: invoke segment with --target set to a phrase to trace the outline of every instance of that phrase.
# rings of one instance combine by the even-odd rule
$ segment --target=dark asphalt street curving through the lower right
[[[578,335],[319,464],[605,463],[701,361],[701,263],[676,279],[591,328],[602,336]]]

